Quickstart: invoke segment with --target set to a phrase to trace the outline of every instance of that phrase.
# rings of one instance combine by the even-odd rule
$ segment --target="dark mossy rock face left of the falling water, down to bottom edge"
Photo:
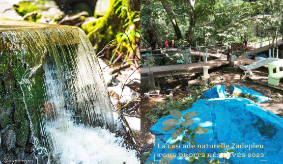
[[[36,163],[33,153],[33,141],[29,118],[27,117],[22,92],[18,81],[21,80],[25,68],[16,59],[10,56],[9,51],[4,51],[0,59],[0,160],[24,160],[26,164]],[[8,59],[8,60],[5,60]],[[31,140],[31,141],[29,141]],[[6,161],[6,162],[5,162]]]

